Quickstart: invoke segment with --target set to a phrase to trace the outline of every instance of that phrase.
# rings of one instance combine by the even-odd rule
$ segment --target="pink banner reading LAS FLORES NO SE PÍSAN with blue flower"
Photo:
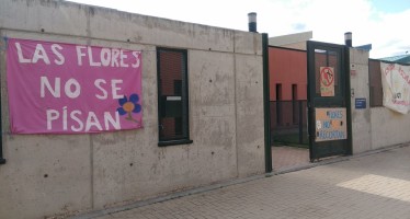
[[[8,39],[12,134],[143,127],[141,51]]]

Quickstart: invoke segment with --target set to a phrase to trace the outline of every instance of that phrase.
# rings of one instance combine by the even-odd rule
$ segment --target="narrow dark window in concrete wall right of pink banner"
[[[189,129],[187,53],[158,48],[158,146],[192,143]]]

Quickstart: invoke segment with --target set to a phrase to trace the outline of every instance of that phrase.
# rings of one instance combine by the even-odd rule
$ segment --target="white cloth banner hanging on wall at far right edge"
[[[410,111],[410,66],[380,62],[383,105],[401,114]]]

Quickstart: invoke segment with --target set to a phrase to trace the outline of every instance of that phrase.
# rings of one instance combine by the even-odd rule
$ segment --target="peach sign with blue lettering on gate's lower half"
[[[348,139],[346,108],[315,108],[316,141]]]

